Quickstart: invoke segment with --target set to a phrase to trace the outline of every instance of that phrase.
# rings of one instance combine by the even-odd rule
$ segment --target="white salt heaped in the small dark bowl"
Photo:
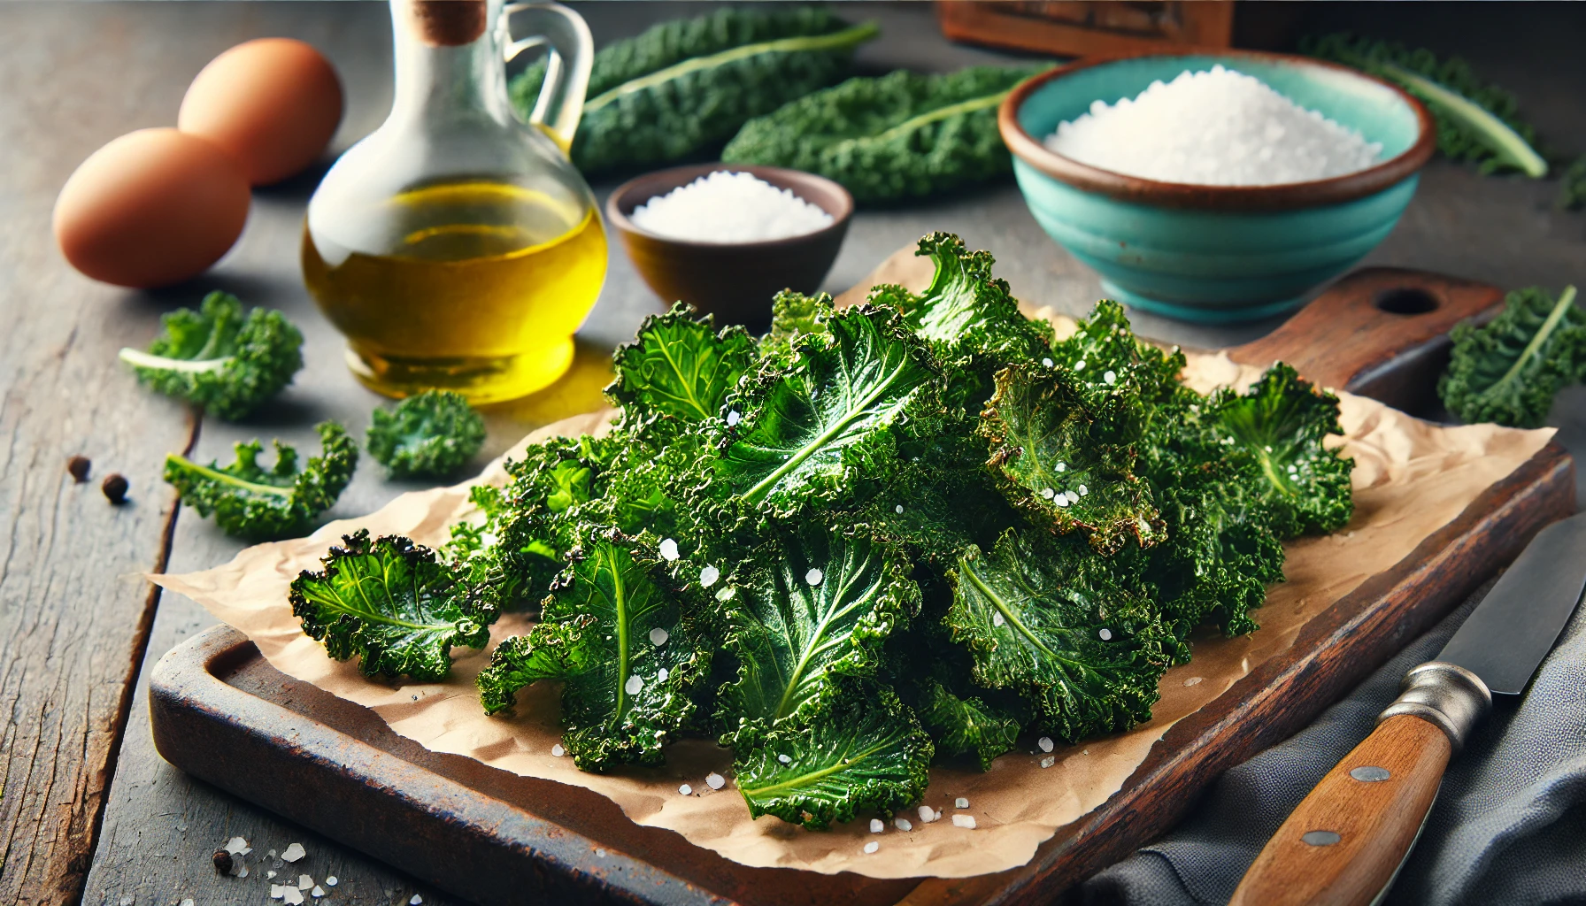
[[[831,225],[831,214],[788,189],[725,170],[657,195],[628,217],[649,233],[696,243],[783,240]]]

